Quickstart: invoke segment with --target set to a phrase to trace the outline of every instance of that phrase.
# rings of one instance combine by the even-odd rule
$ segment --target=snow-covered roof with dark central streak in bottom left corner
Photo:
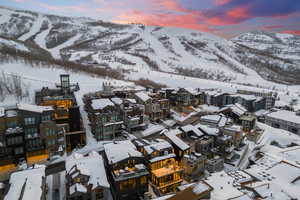
[[[45,178],[44,165],[12,173],[9,179],[10,187],[4,200],[40,200],[43,194],[43,178]]]

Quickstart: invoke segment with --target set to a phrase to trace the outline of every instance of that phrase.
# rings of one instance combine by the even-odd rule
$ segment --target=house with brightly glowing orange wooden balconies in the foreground
[[[183,181],[183,168],[175,160],[176,155],[172,145],[163,139],[136,142],[144,143],[141,152],[146,158],[155,192],[158,194],[175,192],[177,186]]]

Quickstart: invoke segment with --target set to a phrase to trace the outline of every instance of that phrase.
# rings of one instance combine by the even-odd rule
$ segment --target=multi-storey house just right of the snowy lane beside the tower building
[[[115,104],[108,98],[92,99],[86,104],[92,133],[99,140],[112,140],[122,131],[122,117]]]

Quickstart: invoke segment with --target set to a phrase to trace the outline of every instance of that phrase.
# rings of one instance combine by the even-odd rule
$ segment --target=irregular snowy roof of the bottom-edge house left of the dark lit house
[[[76,167],[81,174],[89,176],[88,184],[92,189],[97,186],[109,188],[103,158],[96,151],[91,151],[88,156],[74,153],[66,159],[66,172],[72,173]]]

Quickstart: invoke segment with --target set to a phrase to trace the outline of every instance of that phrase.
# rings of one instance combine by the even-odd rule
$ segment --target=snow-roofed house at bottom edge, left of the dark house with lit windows
[[[110,188],[104,160],[92,151],[84,156],[74,153],[66,160],[66,194],[68,200],[107,199]]]

